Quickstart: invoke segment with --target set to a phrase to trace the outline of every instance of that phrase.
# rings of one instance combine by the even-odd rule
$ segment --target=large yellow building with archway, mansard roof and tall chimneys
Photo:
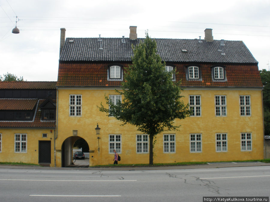
[[[67,38],[60,44],[57,81],[56,166],[71,164],[74,142],[89,146],[89,165],[113,163],[113,150],[121,163],[149,162],[149,137],[132,125],[121,126],[97,106],[104,94],[113,102],[115,92],[131,64],[131,44],[137,45],[137,27],[129,38]],[[65,38],[61,29],[61,41]],[[166,69],[176,69],[184,102],[193,114],[179,131],[156,136],[154,163],[263,159],[262,83],[258,62],[242,41],[155,39]],[[62,48],[63,47],[63,48]],[[108,106],[109,107],[109,106]],[[101,128],[100,136],[95,127]]]

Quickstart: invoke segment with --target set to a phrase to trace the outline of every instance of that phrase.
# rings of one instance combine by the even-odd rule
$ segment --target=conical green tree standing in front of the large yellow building
[[[105,96],[109,109],[101,103],[99,110],[114,116],[124,124],[132,124],[149,135],[149,164],[153,165],[153,138],[164,130],[177,130],[175,119],[190,115],[188,104],[182,101],[180,82],[172,80],[165,63],[157,54],[157,45],[146,32],[146,39],[133,48],[132,65],[125,68],[122,102],[116,105]]]

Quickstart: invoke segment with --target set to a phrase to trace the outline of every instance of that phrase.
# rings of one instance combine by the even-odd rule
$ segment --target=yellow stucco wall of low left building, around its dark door
[[[0,129],[0,133],[2,136],[0,162],[38,164],[39,141],[51,141],[50,166],[54,166],[54,129]],[[47,133],[47,137],[43,138],[42,133]],[[15,152],[15,134],[27,134],[26,152]]]

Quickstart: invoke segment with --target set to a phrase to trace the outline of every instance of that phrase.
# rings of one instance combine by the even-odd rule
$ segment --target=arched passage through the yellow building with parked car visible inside
[[[76,159],[72,162],[74,151],[82,151],[85,159]],[[79,136],[70,136],[62,144],[62,167],[89,167],[89,145]]]

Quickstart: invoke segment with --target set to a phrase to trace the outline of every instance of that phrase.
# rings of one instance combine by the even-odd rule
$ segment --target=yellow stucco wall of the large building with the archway
[[[69,95],[82,95],[82,115],[69,116]],[[132,125],[120,126],[121,122],[106,116],[98,110],[104,94],[116,95],[111,89],[58,89],[58,123],[56,139],[56,166],[61,166],[61,146],[65,139],[73,136],[73,130],[86,140],[90,153],[90,165],[113,163],[113,154],[109,154],[109,134],[122,136],[122,164],[148,163],[149,154],[136,153],[136,134],[142,134]],[[198,162],[263,159],[263,116],[262,94],[257,89],[185,89],[182,92],[185,103],[189,95],[201,95],[200,117],[188,117],[176,120],[181,124],[179,131],[164,131],[156,136],[154,163],[160,162]],[[215,116],[215,95],[226,95],[227,116]],[[239,95],[250,95],[251,116],[240,116]],[[95,127],[101,128],[100,152]],[[163,152],[163,134],[176,135],[176,152]],[[202,135],[202,152],[190,153],[190,133]],[[227,133],[227,152],[216,152],[216,133]],[[252,133],[252,151],[241,151],[241,133]]]

